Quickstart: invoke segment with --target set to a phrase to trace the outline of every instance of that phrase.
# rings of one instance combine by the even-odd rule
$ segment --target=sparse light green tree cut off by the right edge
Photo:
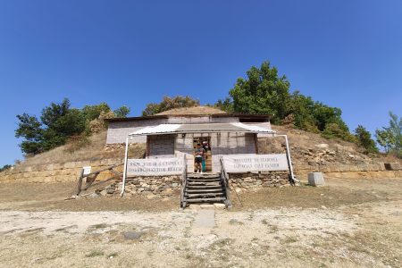
[[[377,142],[381,147],[385,147],[388,153],[392,153],[402,158],[402,117],[389,112],[389,127],[376,130]]]

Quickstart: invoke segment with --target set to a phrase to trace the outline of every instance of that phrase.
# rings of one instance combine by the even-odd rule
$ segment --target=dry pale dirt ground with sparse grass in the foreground
[[[0,184],[0,266],[402,267],[402,180],[326,182],[233,192],[230,211]]]

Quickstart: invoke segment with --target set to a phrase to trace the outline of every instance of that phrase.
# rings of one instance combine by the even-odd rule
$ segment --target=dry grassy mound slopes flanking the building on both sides
[[[321,135],[295,130],[283,126],[272,126],[279,134],[287,134],[293,163],[303,165],[360,164],[375,162],[396,162],[397,158],[384,155],[366,155],[364,149],[341,139],[322,138]],[[106,131],[94,134],[85,143],[71,141],[42,154],[28,157],[14,168],[21,169],[48,163],[68,163],[96,161],[107,158],[123,158],[124,146],[106,146]],[[214,145],[212,145],[214,146]],[[283,153],[285,144],[282,138],[259,138],[260,154]],[[146,152],[145,144],[130,146],[130,157],[142,158]]]

